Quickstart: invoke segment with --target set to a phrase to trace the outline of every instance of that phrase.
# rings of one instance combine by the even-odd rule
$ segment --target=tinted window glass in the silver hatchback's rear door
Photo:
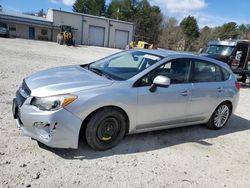
[[[220,81],[223,81],[223,75],[218,65],[203,60],[193,61],[192,82]]]

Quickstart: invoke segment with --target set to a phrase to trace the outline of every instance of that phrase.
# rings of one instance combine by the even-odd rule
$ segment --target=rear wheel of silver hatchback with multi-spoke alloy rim
[[[207,122],[207,127],[210,129],[218,130],[224,127],[230,116],[231,116],[231,106],[228,102],[221,103],[214,111],[209,121]]]

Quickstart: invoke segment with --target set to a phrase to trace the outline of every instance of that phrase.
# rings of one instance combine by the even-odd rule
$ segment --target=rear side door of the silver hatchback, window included
[[[202,121],[211,115],[224,98],[225,87],[221,68],[208,61],[193,59],[190,81],[190,116]]]

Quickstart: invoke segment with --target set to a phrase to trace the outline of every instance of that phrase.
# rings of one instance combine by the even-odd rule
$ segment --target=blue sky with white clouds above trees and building
[[[43,8],[72,11],[75,0],[0,0],[3,8],[20,12],[37,11]],[[109,3],[107,0],[106,3]],[[200,27],[218,26],[234,21],[238,24],[250,24],[250,0],[149,0],[152,5],[161,8],[166,16],[174,16],[182,20],[193,15]]]

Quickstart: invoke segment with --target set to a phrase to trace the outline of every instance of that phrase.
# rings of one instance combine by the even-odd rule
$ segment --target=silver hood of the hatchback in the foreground
[[[79,65],[57,67],[25,78],[31,96],[44,97],[109,86],[113,83]]]

